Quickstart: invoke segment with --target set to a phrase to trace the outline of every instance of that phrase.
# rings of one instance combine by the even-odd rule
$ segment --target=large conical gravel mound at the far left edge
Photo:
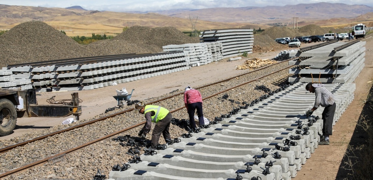
[[[81,57],[81,45],[42,21],[19,24],[0,35],[0,65]]]

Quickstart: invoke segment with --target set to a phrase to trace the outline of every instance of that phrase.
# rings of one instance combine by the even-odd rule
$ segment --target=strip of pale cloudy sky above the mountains
[[[81,6],[87,10],[107,10],[113,12],[149,12],[212,7],[285,6],[319,2],[373,6],[373,0],[0,0],[0,4],[6,5],[61,8]]]

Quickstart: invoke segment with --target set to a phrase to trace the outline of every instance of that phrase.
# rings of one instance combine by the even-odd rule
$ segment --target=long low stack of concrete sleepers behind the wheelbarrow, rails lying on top
[[[189,69],[184,52],[124,56],[97,62],[42,67],[19,66],[9,70],[29,78],[39,91],[90,90]]]

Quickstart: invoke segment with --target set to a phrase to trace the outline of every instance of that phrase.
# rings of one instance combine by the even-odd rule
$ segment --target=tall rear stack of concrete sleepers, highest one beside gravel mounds
[[[201,33],[203,42],[222,43],[223,58],[253,53],[254,35],[251,29],[206,30]]]

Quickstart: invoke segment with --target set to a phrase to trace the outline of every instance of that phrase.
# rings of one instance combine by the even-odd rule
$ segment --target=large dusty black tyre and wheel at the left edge
[[[12,134],[17,123],[17,112],[8,99],[0,99],[0,136]]]

